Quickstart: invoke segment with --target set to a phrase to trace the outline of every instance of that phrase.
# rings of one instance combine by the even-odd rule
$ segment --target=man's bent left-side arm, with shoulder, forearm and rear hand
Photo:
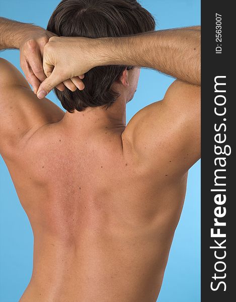
[[[0,49],[21,50],[21,66],[36,91],[45,79],[41,55],[51,36],[40,27],[0,18]],[[7,157],[26,134],[62,118],[64,113],[49,100],[39,101],[10,62],[0,58],[0,70],[0,154]]]

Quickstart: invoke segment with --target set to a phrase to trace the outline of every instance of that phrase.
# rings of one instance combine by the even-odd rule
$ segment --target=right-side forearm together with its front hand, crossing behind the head
[[[113,64],[149,67],[200,85],[200,27],[120,38],[52,37],[44,49],[43,67],[48,78],[37,94],[47,94],[64,79],[93,67]]]

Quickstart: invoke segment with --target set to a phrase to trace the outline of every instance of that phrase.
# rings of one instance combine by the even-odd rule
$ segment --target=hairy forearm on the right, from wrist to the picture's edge
[[[103,65],[149,67],[186,83],[200,85],[200,27],[99,39]]]

